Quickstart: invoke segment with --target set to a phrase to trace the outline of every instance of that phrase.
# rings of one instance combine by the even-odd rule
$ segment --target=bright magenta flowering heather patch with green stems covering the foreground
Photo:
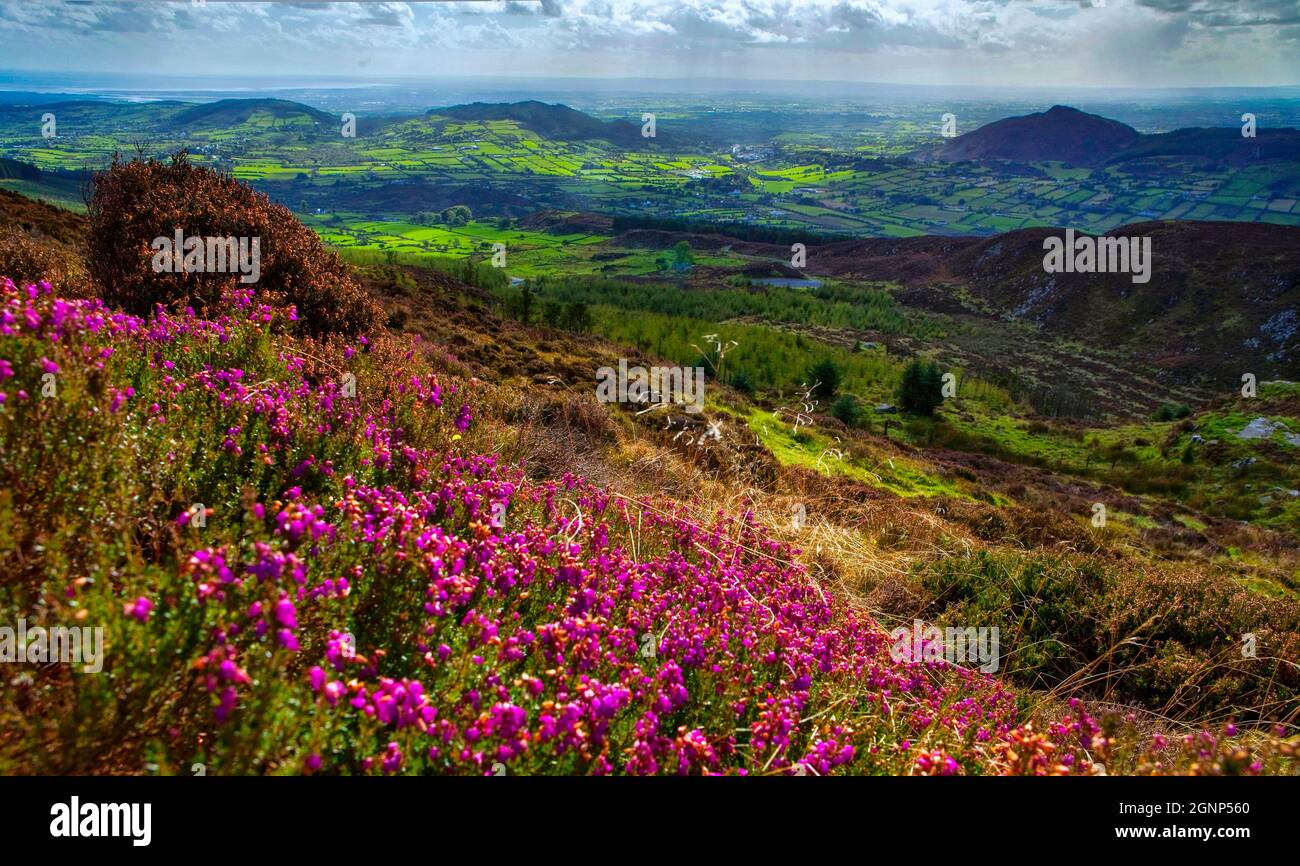
[[[493,453],[500,395],[415,347],[276,335],[247,291],[205,319],[0,291],[0,609],[107,646],[101,675],[4,672],[3,771],[953,775],[1098,748],[890,661],[748,512],[528,479]]]

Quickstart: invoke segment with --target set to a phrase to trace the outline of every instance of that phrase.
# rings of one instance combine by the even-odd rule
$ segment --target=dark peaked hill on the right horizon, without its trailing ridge
[[[1140,138],[1138,130],[1119,121],[1053,105],[1037,114],[1008,117],[958,135],[937,155],[949,161],[997,159],[1101,165]]]

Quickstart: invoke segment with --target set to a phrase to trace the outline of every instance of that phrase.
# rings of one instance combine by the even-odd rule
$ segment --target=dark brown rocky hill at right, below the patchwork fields
[[[923,308],[1123,350],[1179,381],[1300,378],[1300,229],[1140,222],[1109,231],[1150,238],[1147,283],[1127,273],[1046,273],[1044,239],[1063,234],[867,238],[814,247],[809,261],[815,273],[902,282],[900,296]]]

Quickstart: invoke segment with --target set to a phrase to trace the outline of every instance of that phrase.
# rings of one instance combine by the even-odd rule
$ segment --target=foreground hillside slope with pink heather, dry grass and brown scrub
[[[685,440],[593,399],[594,368],[653,355],[502,319],[436,272],[361,278],[390,328],[356,339],[294,335],[239,293],[139,319],[0,283],[23,322],[0,332],[0,605],[88,616],[114,648],[109,676],[18,672],[5,771],[1290,767],[1269,726],[1300,685],[1295,540],[1175,531],[1169,503],[815,408],[760,430],[746,419],[777,407],[723,382],[682,428],[720,436]],[[55,399],[35,398],[47,376]],[[890,472],[936,493],[893,493]],[[1098,502],[1109,532],[1087,527]],[[1277,597],[1209,560],[1228,546]],[[920,618],[1001,623],[1005,667],[900,658],[889,628]],[[1265,658],[1236,651],[1243,628]],[[1115,675],[1079,681],[1097,659]],[[1075,696],[1127,720],[1095,740]]]

